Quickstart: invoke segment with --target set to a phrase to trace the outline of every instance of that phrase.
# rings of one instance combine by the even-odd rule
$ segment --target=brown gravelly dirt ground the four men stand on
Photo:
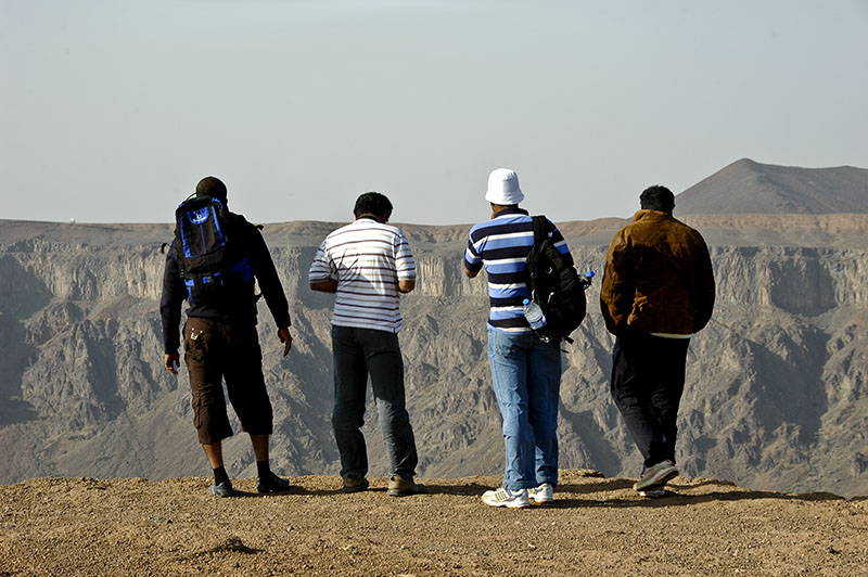
[[[868,575],[868,499],[757,492],[678,478],[638,497],[630,479],[563,471],[557,501],[484,505],[499,477],[386,479],[345,495],[292,477],[282,495],[216,499],[205,477],[37,478],[0,486],[0,577],[41,575]]]

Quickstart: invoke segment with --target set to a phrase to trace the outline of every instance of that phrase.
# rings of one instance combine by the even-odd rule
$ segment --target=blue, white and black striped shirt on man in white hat
[[[563,235],[550,220],[548,236],[561,254],[566,254]],[[534,222],[527,210],[506,208],[487,222],[470,229],[464,267],[471,272],[485,266],[492,309],[488,326],[508,333],[528,333],[522,302],[529,298],[524,260],[534,245]]]

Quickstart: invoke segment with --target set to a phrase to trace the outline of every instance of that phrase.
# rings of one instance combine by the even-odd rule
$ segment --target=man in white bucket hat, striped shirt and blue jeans
[[[488,360],[507,446],[503,486],[485,491],[492,507],[525,509],[553,501],[558,485],[558,400],[561,351],[542,343],[524,318],[529,298],[524,261],[534,245],[533,219],[519,208],[524,193],[513,170],[498,168],[485,194],[492,219],[470,230],[464,273],[488,274]],[[547,221],[547,233],[561,254],[570,249],[561,232]]]

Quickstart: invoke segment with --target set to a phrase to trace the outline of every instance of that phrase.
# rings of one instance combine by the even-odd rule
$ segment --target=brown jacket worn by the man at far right
[[[600,287],[605,328],[692,334],[714,309],[714,271],[702,235],[668,213],[639,210],[605,257]]]

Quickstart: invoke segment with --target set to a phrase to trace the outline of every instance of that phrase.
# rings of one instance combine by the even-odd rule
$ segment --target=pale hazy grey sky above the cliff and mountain
[[[628,217],[740,159],[868,167],[868,0],[0,0],[0,219]]]

